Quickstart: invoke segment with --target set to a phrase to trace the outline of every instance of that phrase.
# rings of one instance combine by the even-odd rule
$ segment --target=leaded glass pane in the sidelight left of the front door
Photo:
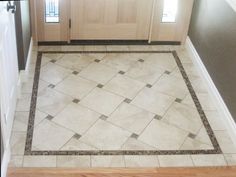
[[[45,0],[46,23],[59,23],[59,0]]]

